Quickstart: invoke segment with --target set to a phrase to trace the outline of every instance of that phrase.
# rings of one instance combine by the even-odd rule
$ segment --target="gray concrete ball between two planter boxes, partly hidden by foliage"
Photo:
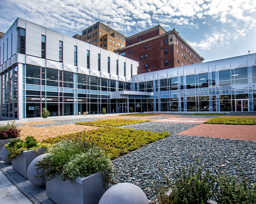
[[[27,170],[27,178],[29,181],[34,184],[35,186],[44,186],[45,182],[43,182],[44,177],[36,178],[35,175],[41,174],[41,170],[35,170],[37,167],[35,167],[35,164],[38,163],[38,161],[41,161],[45,156],[49,154],[42,154],[38,157],[36,157],[31,163],[29,164],[28,170]]]

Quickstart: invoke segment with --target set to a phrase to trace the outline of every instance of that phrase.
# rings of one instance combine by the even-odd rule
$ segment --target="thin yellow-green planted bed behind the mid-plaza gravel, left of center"
[[[149,122],[149,120],[125,120],[125,119],[111,119],[98,120],[91,122],[76,122],[76,125],[89,125],[94,127],[117,127],[122,125],[131,125],[136,123]]]

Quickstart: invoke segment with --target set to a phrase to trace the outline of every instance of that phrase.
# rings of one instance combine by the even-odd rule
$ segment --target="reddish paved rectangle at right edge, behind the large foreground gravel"
[[[256,125],[213,125],[201,124],[177,135],[217,137],[256,141]]]

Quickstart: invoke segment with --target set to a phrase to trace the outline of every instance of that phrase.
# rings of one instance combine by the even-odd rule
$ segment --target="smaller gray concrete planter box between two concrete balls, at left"
[[[40,148],[37,149],[39,155],[44,153],[44,149]],[[19,156],[16,156],[16,158],[12,161],[12,167],[20,173],[22,176],[27,178],[27,169],[29,167],[29,164],[33,159],[38,157],[38,153],[35,150],[23,150]]]

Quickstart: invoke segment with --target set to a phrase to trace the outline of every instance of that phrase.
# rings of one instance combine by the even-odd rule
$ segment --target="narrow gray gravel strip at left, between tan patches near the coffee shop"
[[[55,122],[55,123],[30,125],[30,126],[32,126],[32,127],[51,127],[51,126],[58,126],[58,125],[70,125],[70,124],[75,124],[76,122],[90,122],[90,121],[96,121],[96,120],[107,120],[107,119],[78,118],[78,119],[69,119],[69,120],[52,120],[52,122]]]

